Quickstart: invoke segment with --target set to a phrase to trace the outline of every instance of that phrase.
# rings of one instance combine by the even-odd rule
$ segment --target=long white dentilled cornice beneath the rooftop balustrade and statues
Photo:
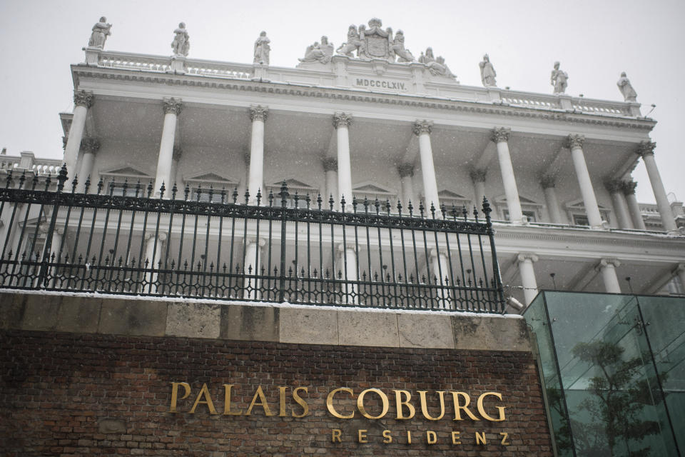
[[[113,79],[119,81],[138,81],[146,84],[164,84],[166,86],[205,87],[228,91],[254,92],[258,94],[275,94],[281,96],[313,97],[356,103],[374,103],[397,106],[411,106],[422,109],[441,109],[495,116],[525,117],[546,121],[569,122],[573,124],[592,124],[612,126],[625,129],[651,131],[656,121],[651,119],[628,119],[603,114],[583,113],[581,111],[564,111],[562,109],[540,109],[535,107],[508,106],[484,101],[467,101],[440,99],[430,95],[417,94],[380,94],[340,87],[315,87],[307,84],[279,83],[273,81],[253,81],[248,79],[210,79],[206,76],[147,73],[126,69],[103,69],[93,66],[72,66],[73,80],[76,87],[80,78]]]

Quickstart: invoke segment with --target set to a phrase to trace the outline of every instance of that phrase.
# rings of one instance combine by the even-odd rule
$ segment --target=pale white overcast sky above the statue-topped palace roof
[[[113,24],[111,51],[171,55],[173,29],[185,21],[191,58],[250,63],[265,30],[271,64],[293,67],[322,35],[337,47],[350,24],[378,17],[404,31],[415,56],[432,46],[462,84],[480,86],[486,52],[498,86],[544,94],[552,92],[554,61],[569,74],[572,96],[622,100],[616,81],[626,71],[643,115],[656,104],[651,138],[666,192],[685,200],[682,0],[0,0],[0,147],[9,155],[61,158],[57,114],[73,108],[69,64],[83,61],[81,48],[103,15]],[[633,176],[639,201],[654,202],[644,166]]]

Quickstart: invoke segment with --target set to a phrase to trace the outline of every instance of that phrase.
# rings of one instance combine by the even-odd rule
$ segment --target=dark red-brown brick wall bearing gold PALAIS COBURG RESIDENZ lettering
[[[552,456],[537,371],[524,351],[472,351],[425,348],[370,348],[259,341],[111,336],[44,331],[0,331],[0,448],[4,456],[155,455],[155,456]],[[191,394],[178,413],[169,413],[172,382],[188,382]],[[218,414],[198,403],[203,383]],[[231,408],[223,414],[225,388],[232,384]],[[275,416],[266,416],[260,400],[244,413],[263,388]],[[287,386],[280,414],[278,386]],[[309,415],[293,400],[296,387]],[[347,387],[355,396],[379,388],[390,398],[381,419],[356,411],[346,393],[336,396],[340,413],[332,416],[326,396]],[[412,393],[417,415],[395,419],[392,389]],[[484,391],[487,411],[506,406],[500,422],[454,421],[452,398],[445,396],[445,417],[422,416],[417,391],[427,390],[429,413],[439,413],[435,391],[470,393],[472,411]],[[367,395],[370,415],[380,414],[380,397]],[[201,396],[201,401],[206,401]],[[462,414],[463,415],[463,414]],[[477,413],[476,413],[477,415]],[[333,429],[341,443],[332,442]],[[360,433],[367,443],[358,443]],[[392,443],[383,443],[390,430]],[[407,431],[412,444],[407,443]],[[435,444],[427,443],[435,432]],[[452,444],[459,431],[461,444]],[[475,433],[486,444],[477,444]],[[507,433],[508,446],[501,444]],[[480,435],[483,436],[483,435]]]

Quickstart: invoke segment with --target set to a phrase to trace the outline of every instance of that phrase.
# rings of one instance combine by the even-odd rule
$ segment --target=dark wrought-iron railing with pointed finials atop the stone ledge
[[[0,287],[379,308],[504,311],[490,207],[407,212],[390,202],[186,186],[64,191],[8,173]],[[56,182],[55,182],[56,181]],[[55,186],[56,184],[56,186]],[[55,189],[56,190],[51,190]],[[208,196],[208,198],[207,198]],[[208,200],[208,201],[207,201]],[[288,207],[288,205],[294,207]],[[428,213],[428,214],[427,214]]]

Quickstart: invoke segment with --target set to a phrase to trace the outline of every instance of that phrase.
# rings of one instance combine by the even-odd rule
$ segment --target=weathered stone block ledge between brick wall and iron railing
[[[519,316],[0,292],[0,328],[332,346],[531,351]]]

